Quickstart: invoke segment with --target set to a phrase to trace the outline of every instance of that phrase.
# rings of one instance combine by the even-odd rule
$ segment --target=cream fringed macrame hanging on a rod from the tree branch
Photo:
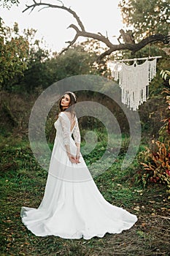
[[[138,110],[139,105],[147,101],[149,96],[148,86],[156,75],[158,58],[161,58],[161,56],[109,61],[112,77],[119,81],[122,90],[122,102],[131,110]],[[137,64],[138,60],[145,61],[143,64]],[[124,61],[134,61],[134,64],[128,65]]]

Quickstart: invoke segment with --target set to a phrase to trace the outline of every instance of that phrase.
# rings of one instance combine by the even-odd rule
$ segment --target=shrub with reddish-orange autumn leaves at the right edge
[[[161,75],[166,80],[169,71],[161,71]],[[169,89],[163,89],[162,93],[169,94]],[[150,148],[147,147],[146,151],[139,154],[140,164],[143,166],[140,179],[144,186],[148,179],[166,184],[167,192],[170,193],[170,118],[166,118],[164,122],[159,130],[159,140],[152,140]]]

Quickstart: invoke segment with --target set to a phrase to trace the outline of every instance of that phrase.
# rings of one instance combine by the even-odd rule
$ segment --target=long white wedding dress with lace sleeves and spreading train
[[[137,221],[136,215],[104,199],[82,155],[80,163],[70,162],[65,145],[76,154],[75,143],[80,143],[77,118],[71,132],[69,117],[61,112],[55,128],[45,195],[39,208],[21,208],[23,224],[36,236],[69,239],[103,237],[105,233],[121,233],[132,227]]]

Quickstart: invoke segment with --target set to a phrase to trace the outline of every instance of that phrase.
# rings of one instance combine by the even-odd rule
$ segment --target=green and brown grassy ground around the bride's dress
[[[88,165],[90,158],[101,156],[105,147],[101,144],[98,143],[90,157],[85,157]],[[94,179],[109,203],[137,215],[139,220],[134,227],[88,241],[34,236],[22,224],[20,208],[39,206],[47,172],[39,167],[28,142],[16,139],[11,141],[12,146],[7,145],[7,140],[1,140],[1,256],[169,255],[170,208],[165,189],[161,184],[149,184],[144,189],[142,184],[134,182],[137,162],[134,160],[131,167],[122,171],[123,154],[109,170]]]

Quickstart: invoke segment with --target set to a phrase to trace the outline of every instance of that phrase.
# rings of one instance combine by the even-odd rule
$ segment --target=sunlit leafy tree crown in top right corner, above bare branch
[[[134,27],[136,39],[169,32],[169,1],[121,0],[120,9],[124,23]]]

